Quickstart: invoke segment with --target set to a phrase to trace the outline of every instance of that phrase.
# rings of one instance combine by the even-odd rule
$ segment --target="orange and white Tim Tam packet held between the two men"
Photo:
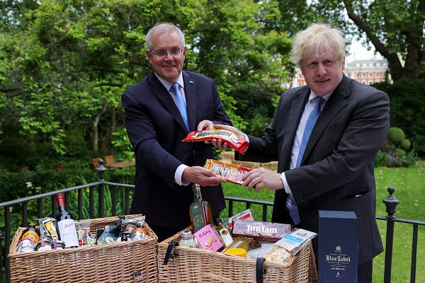
[[[204,168],[210,169],[215,173],[215,175],[219,175],[220,177],[239,185],[242,184],[242,177],[246,174],[246,172],[252,170],[251,168],[237,166],[214,159],[207,159]]]

